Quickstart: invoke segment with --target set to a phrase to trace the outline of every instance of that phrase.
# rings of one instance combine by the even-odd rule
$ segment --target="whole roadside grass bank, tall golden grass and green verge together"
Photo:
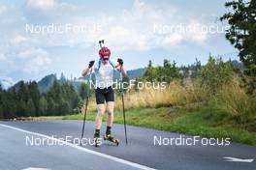
[[[114,123],[123,124],[121,99],[119,95],[115,97]],[[231,138],[233,142],[250,145],[256,145],[255,102],[241,88],[238,76],[214,94],[198,81],[176,80],[166,90],[144,89],[125,95],[128,125],[208,138]],[[91,98],[87,120],[95,120],[95,108],[95,99]],[[82,120],[83,114],[35,119]]]

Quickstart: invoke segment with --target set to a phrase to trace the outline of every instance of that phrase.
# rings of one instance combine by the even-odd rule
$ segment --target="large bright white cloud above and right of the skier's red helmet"
[[[165,7],[146,4],[143,1],[135,0],[130,11],[124,10],[122,14],[111,17],[112,20],[105,26],[110,28],[106,31],[105,37],[114,48],[121,50],[149,50],[152,48],[170,48],[171,45],[178,45],[182,42],[204,44],[208,34],[200,29],[193,32],[173,31],[168,34],[157,34],[154,25],[178,26],[184,23],[185,27],[191,27],[197,23],[204,25],[202,21],[180,14],[176,6]]]

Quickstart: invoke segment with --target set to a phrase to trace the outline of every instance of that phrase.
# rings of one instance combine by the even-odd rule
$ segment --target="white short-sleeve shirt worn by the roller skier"
[[[109,60],[107,64],[103,64],[101,60],[95,62],[94,72],[96,77],[96,87],[100,89],[112,86],[113,71],[117,62]]]

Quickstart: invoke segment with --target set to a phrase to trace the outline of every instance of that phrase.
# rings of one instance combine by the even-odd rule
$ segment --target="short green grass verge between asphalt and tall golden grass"
[[[87,114],[87,120],[94,120],[96,110]],[[82,120],[83,115],[43,117],[54,120]],[[104,120],[106,116],[104,117]],[[202,137],[226,138],[233,142],[256,145],[256,133],[240,128],[229,114],[210,106],[198,108],[136,108],[126,110],[128,125],[181,132]],[[121,111],[114,112],[114,123],[123,124]]]

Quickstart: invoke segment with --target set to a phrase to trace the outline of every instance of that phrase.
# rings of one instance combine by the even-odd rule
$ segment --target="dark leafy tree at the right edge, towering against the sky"
[[[225,6],[232,9],[220,18],[230,24],[226,39],[239,49],[244,73],[248,76],[245,79],[247,89],[253,93],[256,89],[256,1],[236,0],[227,2]]]

